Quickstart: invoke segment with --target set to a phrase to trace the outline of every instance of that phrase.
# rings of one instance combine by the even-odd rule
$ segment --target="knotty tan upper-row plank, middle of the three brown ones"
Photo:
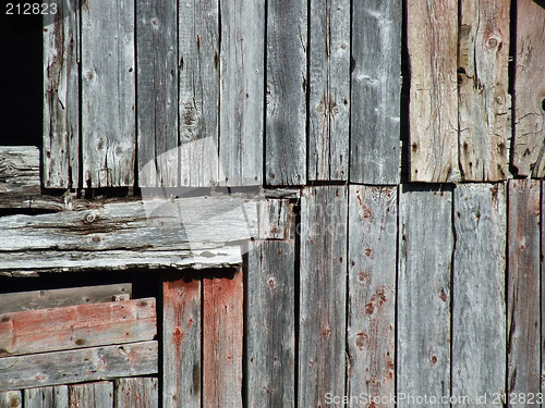
[[[461,177],[507,177],[510,0],[462,0],[458,34]]]

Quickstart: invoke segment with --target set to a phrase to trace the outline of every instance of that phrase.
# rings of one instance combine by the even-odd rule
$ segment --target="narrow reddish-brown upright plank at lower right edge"
[[[508,392],[541,392],[540,212],[541,184],[509,182]]]

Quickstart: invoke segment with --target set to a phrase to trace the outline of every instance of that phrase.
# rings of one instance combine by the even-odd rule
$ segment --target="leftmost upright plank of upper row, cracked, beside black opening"
[[[80,174],[80,0],[44,14],[44,186],[77,188]]]

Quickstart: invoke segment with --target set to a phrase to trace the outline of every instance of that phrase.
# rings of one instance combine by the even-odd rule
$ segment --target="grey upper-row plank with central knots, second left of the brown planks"
[[[350,1],[311,1],[308,180],[347,180]]]

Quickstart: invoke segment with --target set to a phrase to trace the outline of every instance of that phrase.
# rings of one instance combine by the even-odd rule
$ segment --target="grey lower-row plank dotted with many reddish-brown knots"
[[[348,395],[395,394],[397,220],[397,187],[350,186]]]

